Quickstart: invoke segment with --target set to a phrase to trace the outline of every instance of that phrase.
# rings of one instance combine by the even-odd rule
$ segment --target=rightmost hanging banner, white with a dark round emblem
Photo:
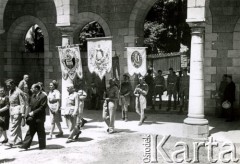
[[[128,73],[132,76],[141,74],[145,76],[147,73],[146,64],[146,47],[126,47],[128,58]]]

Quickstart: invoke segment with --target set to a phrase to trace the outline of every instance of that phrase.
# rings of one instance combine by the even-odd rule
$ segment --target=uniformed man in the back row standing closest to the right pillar
[[[188,97],[189,97],[189,76],[187,74],[187,69],[183,70],[183,75],[180,78],[180,86],[179,86],[179,94],[180,94],[180,110],[179,112],[183,112],[183,108],[187,105]],[[186,103],[186,104],[185,104]]]

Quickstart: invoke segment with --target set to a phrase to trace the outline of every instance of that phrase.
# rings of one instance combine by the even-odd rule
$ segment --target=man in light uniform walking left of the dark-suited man
[[[5,81],[9,89],[9,103],[10,103],[10,139],[7,146],[13,147],[22,142],[21,124],[25,121],[25,102],[24,93],[15,84],[13,79]]]

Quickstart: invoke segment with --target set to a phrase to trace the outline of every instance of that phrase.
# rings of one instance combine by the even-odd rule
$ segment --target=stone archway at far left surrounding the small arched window
[[[29,28],[35,24],[41,27],[44,34],[44,53],[38,55],[25,54],[25,36]],[[46,26],[40,19],[33,16],[23,16],[14,21],[7,33],[7,51],[4,53],[4,58],[8,61],[4,66],[7,78],[14,78],[16,81],[19,81],[25,73],[31,73],[33,77],[35,77],[36,72],[34,73],[33,71],[38,71],[38,67],[36,67],[36,65],[34,67],[34,63],[31,64],[31,61],[35,60],[35,62],[41,61],[41,72],[39,71],[39,73],[42,73],[41,77],[43,79],[32,79],[34,80],[32,82],[37,82],[39,80],[45,82],[44,77],[49,77],[49,73],[52,70],[50,66],[45,65],[45,61],[48,61],[50,56],[49,34]],[[48,67],[48,69],[46,69],[46,67]]]

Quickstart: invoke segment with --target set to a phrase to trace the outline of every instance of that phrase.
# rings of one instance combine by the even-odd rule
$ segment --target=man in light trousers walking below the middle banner
[[[107,91],[104,92],[103,96],[105,101],[103,103],[102,117],[108,126],[107,132],[109,134],[112,134],[114,133],[114,122],[119,91],[115,79],[110,79],[109,85],[110,85],[109,88],[107,88]]]

